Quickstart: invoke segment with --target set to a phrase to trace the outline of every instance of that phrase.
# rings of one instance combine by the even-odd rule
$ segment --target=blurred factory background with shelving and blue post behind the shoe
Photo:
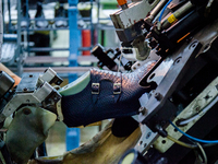
[[[22,77],[51,67],[63,85],[97,67],[96,44],[120,47],[109,15],[116,0],[2,0],[1,62]],[[60,155],[94,137],[109,120],[85,128],[56,122],[46,140],[48,155]]]

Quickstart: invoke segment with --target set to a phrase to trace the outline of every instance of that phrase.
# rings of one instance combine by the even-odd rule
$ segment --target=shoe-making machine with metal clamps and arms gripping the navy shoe
[[[157,61],[138,81],[153,89],[140,98],[141,108],[134,116],[142,137],[120,163],[128,157],[129,163],[216,163],[218,1],[143,0],[119,4],[121,9],[110,16],[122,47],[112,59],[100,46],[95,48],[99,67],[114,71],[113,60],[119,58],[125,70],[134,71]],[[60,84],[61,80],[51,69],[44,75],[24,77],[15,92],[10,91],[13,80],[3,72],[1,78],[7,84],[1,86],[1,122],[29,104],[58,114],[56,104],[61,96],[49,83]],[[29,80],[32,85],[26,87]]]

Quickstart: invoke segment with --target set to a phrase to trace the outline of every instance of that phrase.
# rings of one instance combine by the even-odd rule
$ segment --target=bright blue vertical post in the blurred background
[[[78,47],[81,46],[81,35],[77,28],[77,3],[78,0],[69,0],[69,31],[70,31],[70,55],[69,67],[77,66]],[[76,73],[69,74],[69,83],[77,79]],[[66,128],[66,151],[80,145],[80,128]]]

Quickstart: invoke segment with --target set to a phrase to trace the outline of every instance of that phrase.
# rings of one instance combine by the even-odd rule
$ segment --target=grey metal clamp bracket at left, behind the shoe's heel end
[[[39,73],[24,73],[15,94],[0,114],[0,122],[4,121],[22,105],[39,105],[57,114],[56,104],[61,95],[49,83],[60,84],[62,80],[51,68],[45,71],[41,77]]]

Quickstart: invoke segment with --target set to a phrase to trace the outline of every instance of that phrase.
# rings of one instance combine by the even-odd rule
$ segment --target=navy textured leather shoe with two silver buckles
[[[132,73],[92,69],[90,81],[83,91],[62,97],[63,122],[77,127],[137,114],[138,98],[152,90],[138,82],[155,63],[149,61]]]

